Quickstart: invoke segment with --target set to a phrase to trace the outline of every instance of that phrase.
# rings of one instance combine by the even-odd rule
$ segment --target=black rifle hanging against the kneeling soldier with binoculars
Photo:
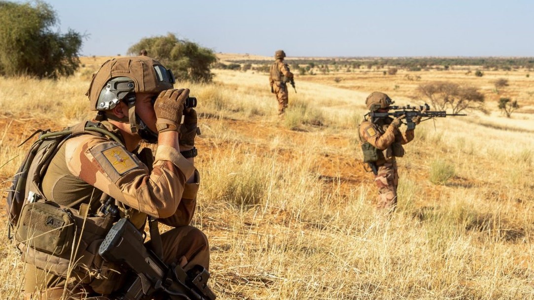
[[[171,300],[215,300],[216,296],[207,286],[209,273],[197,265],[187,273],[179,265],[168,266],[143,244],[143,235],[127,218],[115,223],[98,254],[108,262],[129,267],[135,276],[118,295],[119,300],[139,300],[163,292]]]

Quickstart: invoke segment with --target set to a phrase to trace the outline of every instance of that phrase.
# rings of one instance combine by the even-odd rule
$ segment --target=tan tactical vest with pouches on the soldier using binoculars
[[[104,262],[98,255],[101,241],[118,219],[110,199],[103,195],[100,213],[96,215],[88,206],[77,210],[47,201],[40,183],[50,161],[69,138],[90,134],[122,142],[101,124],[92,122],[80,123],[61,132],[37,132],[41,135],[30,147],[7,195],[6,209],[10,226],[15,227],[14,238],[22,252],[22,260],[60,277],[77,278],[97,293],[111,293],[119,287],[111,280],[117,276],[114,270],[119,267]]]

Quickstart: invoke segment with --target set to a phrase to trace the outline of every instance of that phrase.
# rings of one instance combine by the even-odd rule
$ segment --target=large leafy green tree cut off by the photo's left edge
[[[41,1],[0,1],[0,75],[69,76],[80,66],[82,35],[60,34],[56,12]]]

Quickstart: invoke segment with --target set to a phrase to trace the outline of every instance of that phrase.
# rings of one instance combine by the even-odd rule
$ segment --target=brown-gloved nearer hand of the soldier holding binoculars
[[[189,89],[170,89],[159,94],[154,103],[158,118],[156,121],[158,132],[179,130],[187,97],[189,97]]]

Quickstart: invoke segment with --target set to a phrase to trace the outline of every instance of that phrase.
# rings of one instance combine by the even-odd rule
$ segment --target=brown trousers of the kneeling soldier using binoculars
[[[172,228],[161,234],[163,248],[163,262],[177,263],[185,271],[195,265],[209,268],[209,246],[206,235],[193,226]],[[146,243],[147,245],[150,242]],[[67,285],[67,298],[82,299],[91,295],[91,288],[82,286],[66,278],[50,274],[46,270],[26,264],[25,300],[59,300],[62,299],[64,287]],[[123,281],[123,280],[122,280]],[[118,283],[118,281],[117,281]],[[156,296],[157,298],[157,296]],[[91,299],[91,298],[88,298]],[[107,299],[107,297],[95,298]]]

